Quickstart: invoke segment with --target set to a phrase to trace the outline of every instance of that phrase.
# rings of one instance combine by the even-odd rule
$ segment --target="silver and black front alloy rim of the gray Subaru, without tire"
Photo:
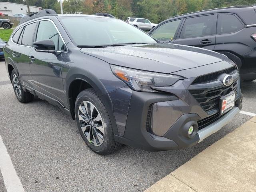
[[[98,109],[89,101],[84,101],[78,109],[80,127],[86,139],[94,146],[104,141],[105,128]]]

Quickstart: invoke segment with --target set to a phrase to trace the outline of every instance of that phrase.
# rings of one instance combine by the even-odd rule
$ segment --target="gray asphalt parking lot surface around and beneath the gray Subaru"
[[[242,85],[243,111],[256,113],[256,81]],[[90,151],[76,122],[48,102],[18,102],[0,60],[0,136],[20,182],[37,191],[144,191],[199,152],[252,118],[238,114],[200,144],[166,152],[124,146],[109,156]],[[6,192],[0,174],[0,192]]]

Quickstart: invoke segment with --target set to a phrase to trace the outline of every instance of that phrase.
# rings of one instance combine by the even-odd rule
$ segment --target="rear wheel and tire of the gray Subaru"
[[[22,89],[20,78],[14,70],[12,70],[11,80],[12,80],[12,87],[14,90],[14,94],[16,98],[19,100],[19,102],[27,103],[33,100],[34,95],[29,92],[25,92]]]

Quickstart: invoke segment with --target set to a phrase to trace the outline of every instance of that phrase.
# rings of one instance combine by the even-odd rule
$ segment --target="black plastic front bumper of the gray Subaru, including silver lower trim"
[[[198,130],[196,135],[192,138],[189,138],[186,135],[187,132],[184,132],[184,130],[187,130],[187,126],[191,123],[202,120],[196,113],[181,115],[162,136],[157,136],[152,133],[150,128],[147,129],[147,116],[150,104],[168,102],[172,110],[171,103],[177,102],[178,100],[177,97],[167,94],[133,92],[124,135],[115,135],[116,140],[123,144],[147,151],[187,148],[201,142],[206,137],[220,130],[223,126],[228,124],[242,108],[242,94],[239,93],[239,97],[236,99],[236,105],[232,110],[220,116],[218,120],[210,125]],[[161,124],[159,124],[158,128],[160,128],[160,126]]]

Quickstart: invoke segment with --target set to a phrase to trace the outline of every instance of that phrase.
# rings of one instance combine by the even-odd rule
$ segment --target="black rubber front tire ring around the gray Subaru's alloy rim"
[[[113,134],[112,133],[112,125],[110,123],[110,119],[108,117],[108,113],[106,111],[105,106],[97,97],[95,97],[93,92],[95,92],[95,91],[92,89],[88,89],[88,90],[84,90],[84,91],[80,92],[80,94],[78,94],[76,103],[75,103],[76,123],[78,126],[78,130],[79,130],[84,142],[86,143],[86,145],[91,150],[93,150],[94,152],[96,152],[98,154],[106,154],[106,153],[108,153],[109,148],[111,146],[111,141],[112,141],[111,138],[112,138],[112,134]],[[80,104],[84,101],[89,101],[92,104],[94,104],[94,106],[97,108],[98,112],[100,113],[100,115],[102,117],[102,121],[103,121],[102,123],[104,124],[105,133],[104,133],[103,143],[100,146],[94,146],[93,144],[91,144],[85,137],[85,135],[82,132],[82,129],[80,127],[80,122],[78,119],[78,110],[79,110]]]

